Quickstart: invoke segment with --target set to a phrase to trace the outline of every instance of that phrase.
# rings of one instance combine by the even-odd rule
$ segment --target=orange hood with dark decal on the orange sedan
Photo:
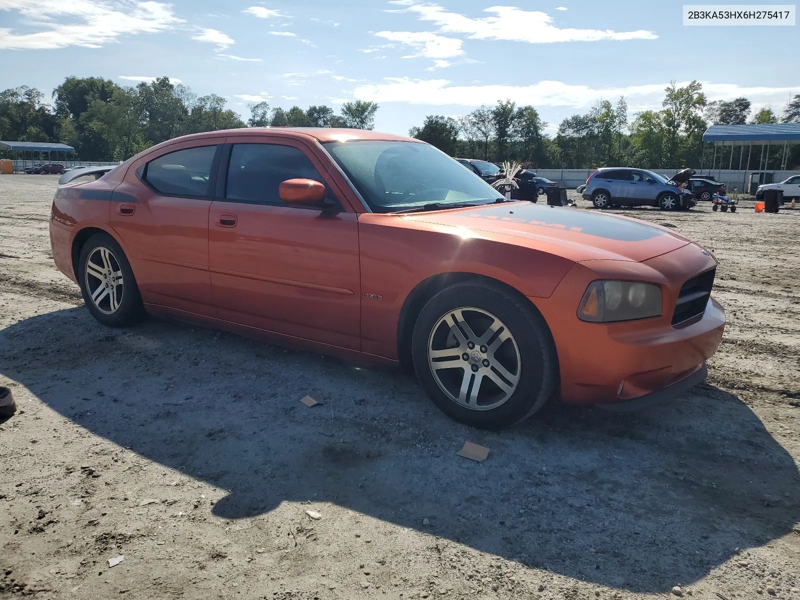
[[[558,254],[575,262],[642,262],[690,243],[689,239],[666,227],[636,218],[532,202],[436,210],[403,218],[500,234],[517,240],[513,243],[521,246]]]

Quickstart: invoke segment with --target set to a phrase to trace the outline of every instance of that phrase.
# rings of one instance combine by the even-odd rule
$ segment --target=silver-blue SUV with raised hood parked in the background
[[[682,185],[694,174],[686,169],[667,179],[653,171],[606,167],[586,180],[583,199],[595,208],[611,206],[658,206],[662,210],[691,208],[697,202]]]

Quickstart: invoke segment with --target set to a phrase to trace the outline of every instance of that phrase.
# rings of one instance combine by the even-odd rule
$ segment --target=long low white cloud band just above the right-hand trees
[[[688,82],[679,82],[686,86]],[[800,82],[798,82],[800,83]],[[765,102],[784,102],[789,87],[742,87],[729,83],[702,82],[703,92],[710,100],[730,100],[746,96],[754,105]],[[625,96],[631,110],[661,109],[667,83],[642,86],[592,88],[564,82],[542,81],[530,86],[473,85],[451,86],[446,79],[385,78],[382,83],[356,86],[354,98],[373,102],[410,102],[434,106],[481,106],[509,98],[518,104],[533,106],[570,106],[585,108],[600,98],[615,101]]]

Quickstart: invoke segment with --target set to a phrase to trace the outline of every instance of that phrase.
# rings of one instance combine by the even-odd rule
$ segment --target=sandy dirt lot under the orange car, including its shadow
[[[800,598],[800,210],[627,210],[720,260],[709,382],[485,433],[402,374],[104,328],[50,258],[55,186],[0,176],[0,598]]]

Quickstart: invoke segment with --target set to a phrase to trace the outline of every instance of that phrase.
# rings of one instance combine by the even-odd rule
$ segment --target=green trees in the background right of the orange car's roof
[[[640,169],[710,167],[714,147],[702,144],[710,125],[745,123],[800,123],[800,94],[786,105],[780,117],[764,107],[750,114],[747,98],[708,102],[702,84],[693,81],[667,86],[662,110],[644,110],[628,118],[625,98],[615,104],[599,100],[586,114],[574,114],[558,125],[555,135],[543,133],[533,106],[516,106],[510,100],[481,106],[460,118],[431,114],[409,134],[462,158],[502,162],[514,160],[532,168],[586,169],[633,166]],[[704,155],[705,153],[705,155]],[[742,162],[743,169],[758,168],[758,152],[750,158],[742,148],[724,150],[724,166]],[[740,156],[740,154],[742,154]],[[729,158],[733,159],[729,161]],[[720,156],[717,161],[722,160]],[[773,152],[766,168],[780,168],[781,152]],[[800,146],[790,146],[787,168],[800,167]]]

